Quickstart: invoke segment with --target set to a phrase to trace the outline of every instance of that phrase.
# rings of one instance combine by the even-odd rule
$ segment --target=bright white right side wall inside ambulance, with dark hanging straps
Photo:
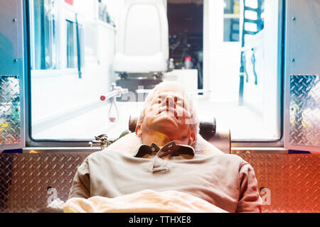
[[[246,57],[250,61],[255,48],[257,84],[254,83],[252,64],[247,64],[249,82],[244,82],[243,99],[246,106],[261,114],[265,127],[274,138],[279,137],[280,76],[281,76],[281,17],[279,1],[265,1],[265,28],[247,43]]]

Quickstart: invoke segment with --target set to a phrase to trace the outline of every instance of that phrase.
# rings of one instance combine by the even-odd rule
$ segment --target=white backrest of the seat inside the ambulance
[[[117,26],[115,72],[166,72],[169,28],[163,0],[126,0]]]

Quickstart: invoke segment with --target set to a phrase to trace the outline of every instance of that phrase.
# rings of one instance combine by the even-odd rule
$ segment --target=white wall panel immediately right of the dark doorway
[[[223,42],[223,0],[204,0],[203,84],[211,101],[237,101],[240,43]]]

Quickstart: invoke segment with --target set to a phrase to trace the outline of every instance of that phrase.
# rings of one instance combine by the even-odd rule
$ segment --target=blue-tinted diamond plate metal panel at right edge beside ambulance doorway
[[[320,76],[290,76],[291,145],[320,147]]]

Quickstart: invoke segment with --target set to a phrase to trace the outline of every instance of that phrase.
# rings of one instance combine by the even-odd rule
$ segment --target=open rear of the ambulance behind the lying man
[[[0,150],[16,162],[56,155],[74,172],[87,153],[133,131],[150,89],[177,81],[203,127],[214,128],[213,138],[203,137],[257,168],[263,211],[319,212],[319,1],[0,3],[0,92],[10,99],[0,101]],[[19,11],[13,21],[10,12]],[[18,29],[6,29],[11,23]],[[9,193],[11,175],[1,176]],[[39,189],[66,199],[69,178],[63,189],[58,182]],[[298,184],[310,198],[293,192]],[[34,211],[53,195],[46,190],[38,202],[14,206],[26,192],[10,192],[0,196],[1,212]],[[303,204],[290,203],[294,197]]]

